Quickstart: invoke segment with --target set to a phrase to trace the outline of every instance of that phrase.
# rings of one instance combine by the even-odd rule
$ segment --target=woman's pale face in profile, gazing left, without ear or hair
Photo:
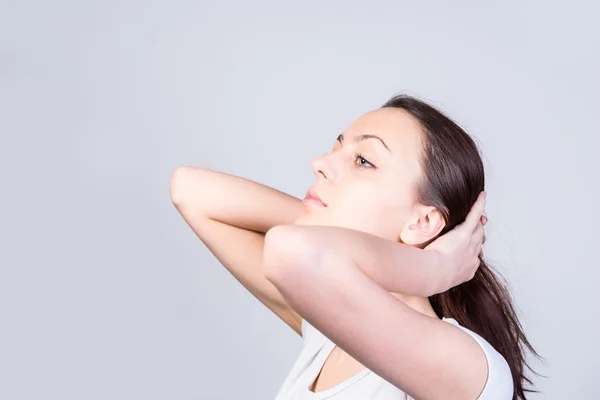
[[[403,231],[421,223],[424,211],[414,204],[413,193],[421,177],[421,151],[420,127],[406,111],[381,108],[361,116],[332,152],[313,161],[317,180],[311,188],[326,206],[303,201],[305,212],[295,223],[404,241]]]

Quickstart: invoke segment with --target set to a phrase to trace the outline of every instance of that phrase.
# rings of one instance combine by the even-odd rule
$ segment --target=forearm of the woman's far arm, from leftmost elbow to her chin
[[[300,199],[239,176],[180,166],[170,184],[173,203],[228,225],[266,233],[292,224],[302,213]],[[193,210],[191,210],[193,209]]]

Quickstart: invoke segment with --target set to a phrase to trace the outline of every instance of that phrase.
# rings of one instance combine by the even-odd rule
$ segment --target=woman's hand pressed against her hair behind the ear
[[[485,192],[479,194],[462,224],[425,247],[425,250],[435,251],[441,256],[443,272],[437,293],[472,279],[481,264],[481,246],[485,243],[483,226],[487,222],[483,215],[485,196]]]

